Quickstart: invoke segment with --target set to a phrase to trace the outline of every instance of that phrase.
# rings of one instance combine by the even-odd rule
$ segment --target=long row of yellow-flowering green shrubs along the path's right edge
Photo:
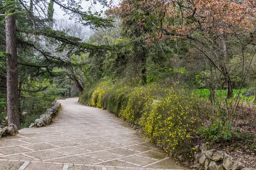
[[[192,92],[155,83],[131,87],[102,82],[87,89],[79,101],[139,125],[145,136],[151,142],[163,144],[166,152],[188,156],[193,153],[200,118],[207,113]]]

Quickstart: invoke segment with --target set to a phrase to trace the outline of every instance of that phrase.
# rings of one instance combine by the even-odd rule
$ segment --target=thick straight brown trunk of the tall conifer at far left
[[[18,105],[18,71],[15,16],[6,15],[6,59],[7,66],[7,117],[8,124],[15,124],[20,129],[20,113]]]

